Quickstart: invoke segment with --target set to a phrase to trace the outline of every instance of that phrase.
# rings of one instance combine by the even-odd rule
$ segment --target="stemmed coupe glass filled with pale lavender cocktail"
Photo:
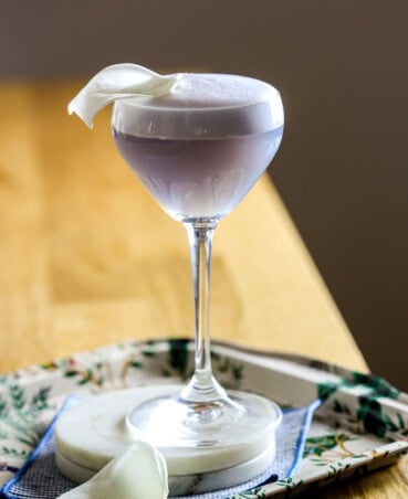
[[[227,394],[212,375],[211,243],[218,222],[244,198],[281,144],[280,94],[244,76],[186,74],[167,96],[115,102],[112,128],[137,178],[187,230],[195,304],[192,379],[178,393],[136,406],[127,423],[161,449],[222,449],[229,464],[251,459],[268,446],[280,411],[254,394]]]

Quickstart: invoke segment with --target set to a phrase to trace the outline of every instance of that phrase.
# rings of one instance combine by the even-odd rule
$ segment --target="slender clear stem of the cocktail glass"
[[[181,391],[180,399],[192,404],[227,399],[226,391],[212,375],[209,337],[211,248],[217,223],[217,219],[196,219],[185,222],[192,270],[196,357],[195,373]]]

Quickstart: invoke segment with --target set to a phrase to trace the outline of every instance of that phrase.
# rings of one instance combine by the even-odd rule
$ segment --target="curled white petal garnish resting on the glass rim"
[[[90,128],[95,115],[116,99],[135,96],[160,96],[168,94],[180,74],[159,75],[138,64],[114,64],[100,71],[67,106]]]

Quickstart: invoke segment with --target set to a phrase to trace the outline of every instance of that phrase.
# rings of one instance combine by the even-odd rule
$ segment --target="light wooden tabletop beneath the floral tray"
[[[108,110],[93,131],[67,116],[82,84],[0,87],[0,372],[192,332],[184,229],[119,158]],[[268,177],[220,223],[212,275],[212,338],[367,370]],[[406,497],[407,464],[318,497]]]

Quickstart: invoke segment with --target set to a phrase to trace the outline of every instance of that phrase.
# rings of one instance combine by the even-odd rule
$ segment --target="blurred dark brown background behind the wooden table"
[[[273,180],[372,370],[408,390],[408,2],[0,0],[0,79],[116,62],[280,88]]]

